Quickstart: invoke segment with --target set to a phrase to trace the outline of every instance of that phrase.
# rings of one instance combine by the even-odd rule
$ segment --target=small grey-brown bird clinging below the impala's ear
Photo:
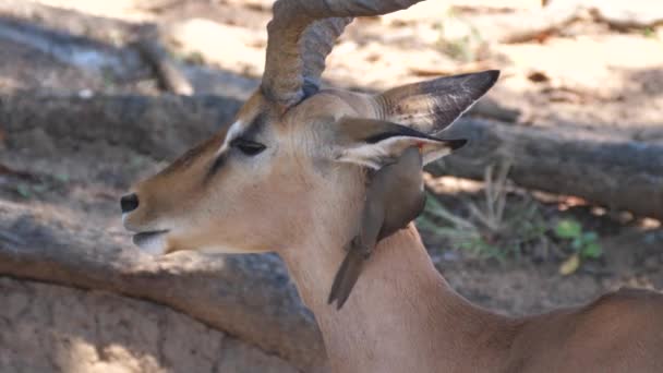
[[[412,146],[371,177],[359,232],[346,245],[348,253],[334,278],[329,304],[336,300],[340,310],[377,242],[421,214],[425,204],[422,167],[421,153]]]

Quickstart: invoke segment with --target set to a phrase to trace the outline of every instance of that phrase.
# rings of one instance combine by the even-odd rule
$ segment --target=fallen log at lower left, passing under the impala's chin
[[[0,234],[0,275],[150,300],[305,372],[324,366],[315,321],[276,255],[152,257],[85,221],[5,201],[0,201],[0,231],[8,233]]]

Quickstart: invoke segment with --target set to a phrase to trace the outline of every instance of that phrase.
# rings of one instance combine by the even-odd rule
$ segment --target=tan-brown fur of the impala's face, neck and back
[[[364,172],[334,163],[333,122],[379,118],[364,95],[322,92],[282,111],[257,93],[238,119],[266,115],[255,158],[229,153],[205,181],[226,130],[138,183],[134,231],[170,229],[164,253],[276,251],[321,326],[335,372],[661,372],[663,297],[619,291],[581,308],[492,314],[437,273],[417,230],[382,241],[342,310],[326,296],[354,232]]]

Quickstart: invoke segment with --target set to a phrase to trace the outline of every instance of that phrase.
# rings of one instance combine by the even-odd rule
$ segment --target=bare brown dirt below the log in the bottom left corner
[[[149,302],[11,278],[0,294],[0,372],[297,372]]]

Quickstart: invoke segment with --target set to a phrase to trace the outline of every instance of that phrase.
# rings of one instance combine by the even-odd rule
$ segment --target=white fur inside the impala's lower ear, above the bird
[[[395,161],[411,146],[418,146],[423,164],[437,160],[465,145],[465,140],[431,140],[413,136],[391,136],[376,143],[358,143],[339,149],[336,160],[379,169]]]

